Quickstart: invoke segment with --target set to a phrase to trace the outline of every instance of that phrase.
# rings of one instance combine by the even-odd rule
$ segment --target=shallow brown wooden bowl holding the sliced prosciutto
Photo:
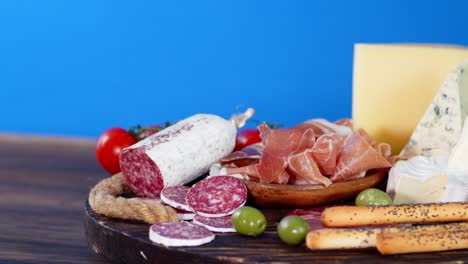
[[[322,185],[287,185],[244,180],[252,202],[261,207],[311,207],[356,197],[364,189],[377,186],[387,177],[377,171],[363,178]]]

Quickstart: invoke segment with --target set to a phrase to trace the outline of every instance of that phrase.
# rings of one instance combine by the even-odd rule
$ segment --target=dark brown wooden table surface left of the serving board
[[[94,144],[0,135],[0,263],[109,263],[84,234],[89,189],[107,175]]]

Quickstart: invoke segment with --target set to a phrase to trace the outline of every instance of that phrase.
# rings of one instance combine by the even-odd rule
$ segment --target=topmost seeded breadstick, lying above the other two
[[[328,227],[468,221],[468,203],[393,206],[335,206],[322,213]]]

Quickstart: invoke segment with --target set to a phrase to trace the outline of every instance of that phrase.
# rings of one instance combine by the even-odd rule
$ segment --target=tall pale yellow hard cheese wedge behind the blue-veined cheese
[[[356,45],[354,128],[390,143],[398,154],[447,74],[467,58],[462,47]]]

